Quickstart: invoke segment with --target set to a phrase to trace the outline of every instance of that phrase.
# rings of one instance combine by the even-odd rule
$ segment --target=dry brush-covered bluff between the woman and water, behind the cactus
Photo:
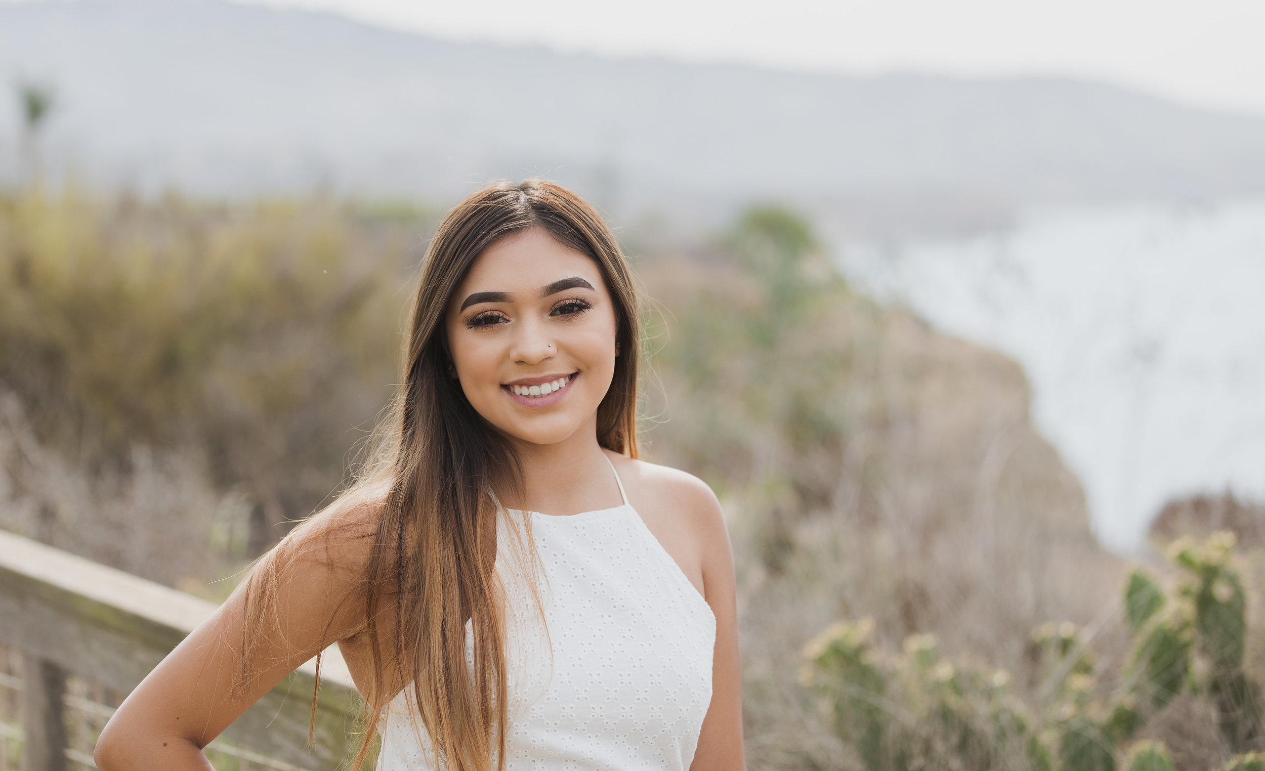
[[[736,249],[775,249],[759,239]],[[1032,428],[1020,368],[855,294],[818,260],[806,241],[774,268],[793,284],[783,308],[759,270],[734,268],[750,258],[643,267],[670,313],[670,420],[649,451],[722,490],[731,517],[753,767],[855,766],[796,685],[801,647],[834,621],[873,617],[893,650],[932,632],[1022,690],[1035,626],[1118,617],[1123,565]]]

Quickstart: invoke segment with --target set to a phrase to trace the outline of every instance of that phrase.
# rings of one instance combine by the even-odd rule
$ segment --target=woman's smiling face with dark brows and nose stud
[[[615,374],[615,308],[597,264],[541,228],[493,243],[448,306],[462,391],[502,434],[525,442],[596,436]]]

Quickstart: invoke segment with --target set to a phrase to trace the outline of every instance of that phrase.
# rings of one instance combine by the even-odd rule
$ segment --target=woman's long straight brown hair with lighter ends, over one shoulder
[[[373,677],[364,689],[364,742],[355,766],[393,696],[385,684],[395,677],[407,683],[410,676],[436,761],[453,771],[490,771],[495,750],[497,768],[505,766],[505,614],[495,574],[497,506],[488,490],[503,490],[512,499],[522,480],[510,444],[447,377],[444,319],[478,255],[529,228],[543,228],[602,272],[615,307],[620,355],[597,408],[597,441],[638,455],[639,298],[610,228],[577,195],[545,179],[501,182],[462,201],[444,217],[423,260],[400,394],[381,430],[379,461],[344,493],[350,497],[376,484],[387,489],[358,595]],[[266,559],[250,576],[243,657],[248,672],[252,643],[267,626],[276,598],[276,562]],[[393,612],[383,613],[387,607]],[[473,631],[473,671],[466,659],[467,621]]]

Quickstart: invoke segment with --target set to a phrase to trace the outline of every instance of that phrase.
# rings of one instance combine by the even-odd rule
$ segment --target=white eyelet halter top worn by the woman
[[[543,608],[525,581],[526,552],[514,547],[522,541],[511,517],[522,514],[501,512],[510,771],[684,771],[694,757],[716,617],[629,506],[614,464],[611,473],[621,506],[529,513]],[[415,715],[410,685],[383,713],[378,771],[434,768]]]

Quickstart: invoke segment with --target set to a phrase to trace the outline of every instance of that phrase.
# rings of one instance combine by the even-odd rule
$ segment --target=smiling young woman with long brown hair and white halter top
[[[145,677],[97,766],[207,768],[336,641],[381,771],[744,768],[729,538],[706,484],[636,459],[639,334],[584,201],[540,179],[463,201],[382,461]]]

